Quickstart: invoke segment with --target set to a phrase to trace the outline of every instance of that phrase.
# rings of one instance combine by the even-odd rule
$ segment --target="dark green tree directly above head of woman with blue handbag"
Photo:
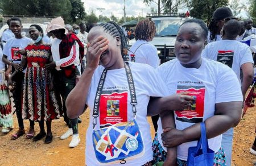
[[[194,18],[203,19],[207,24],[218,7],[228,6],[228,0],[186,0],[186,2],[190,9],[190,15]]]

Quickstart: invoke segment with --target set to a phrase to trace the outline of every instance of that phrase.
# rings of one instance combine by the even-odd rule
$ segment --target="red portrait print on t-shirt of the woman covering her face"
[[[100,97],[100,126],[108,127],[119,122],[127,122],[126,90],[103,90]]]

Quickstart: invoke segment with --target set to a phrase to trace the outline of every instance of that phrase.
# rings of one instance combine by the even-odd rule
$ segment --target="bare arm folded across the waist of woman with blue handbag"
[[[205,120],[208,139],[237,126],[241,118],[242,101],[216,103],[215,109],[215,115]],[[175,147],[181,143],[198,140],[200,135],[200,124],[196,123],[184,130],[172,129],[169,132],[164,132],[162,140],[166,142],[165,147]]]

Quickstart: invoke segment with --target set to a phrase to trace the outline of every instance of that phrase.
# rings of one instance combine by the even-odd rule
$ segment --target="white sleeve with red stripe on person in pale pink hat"
[[[71,48],[68,57],[56,61],[56,67],[68,67],[69,65],[75,64],[79,61],[79,44],[75,42]]]

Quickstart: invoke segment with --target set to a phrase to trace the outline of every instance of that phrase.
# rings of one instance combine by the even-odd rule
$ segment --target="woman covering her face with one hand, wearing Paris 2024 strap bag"
[[[192,97],[175,95],[160,98],[166,96],[166,89],[154,68],[147,64],[123,61],[127,52],[127,38],[118,24],[108,22],[93,27],[88,34],[88,42],[86,68],[66,101],[69,118],[78,117],[87,106],[90,108],[90,122],[86,132],[86,165],[101,165],[102,157],[109,161],[118,156],[120,151],[135,151],[138,147],[144,147],[144,153],[140,156],[133,156],[133,159],[123,157],[125,159],[114,161],[112,165],[151,165],[150,125],[146,117],[159,114],[162,110],[183,109]],[[109,109],[112,103],[116,107],[114,116]],[[97,140],[105,142],[99,149],[93,146],[97,144],[92,138],[95,130],[105,130],[104,127],[111,128],[119,122],[126,123],[134,119],[138,124],[138,133],[142,135],[141,144],[130,136],[125,137],[125,140],[118,140],[117,138],[125,135],[120,132],[117,132],[120,135],[112,135],[109,132],[101,137],[104,140]],[[128,129],[124,130],[122,131],[129,132]]]

